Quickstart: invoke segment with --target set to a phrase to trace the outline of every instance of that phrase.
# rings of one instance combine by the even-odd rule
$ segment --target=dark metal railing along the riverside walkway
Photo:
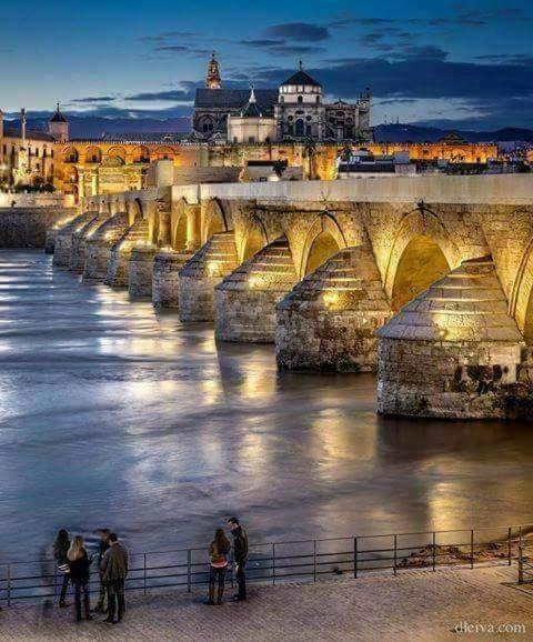
[[[533,526],[251,543],[247,580],[276,584],[294,580],[316,582],[338,575],[359,578],[379,571],[392,571],[396,575],[412,569],[435,571],[454,565],[474,569],[487,562],[511,565],[514,559],[520,563],[520,543],[529,531],[533,531]],[[97,591],[98,573],[95,569],[92,571],[90,590]],[[533,566],[523,569],[523,578],[526,572],[533,579]],[[0,563],[0,604],[10,606],[24,600],[57,599],[62,579],[50,559]],[[228,579],[233,584],[231,564]],[[208,582],[207,546],[130,554],[129,591],[147,594],[178,588],[191,592]]]

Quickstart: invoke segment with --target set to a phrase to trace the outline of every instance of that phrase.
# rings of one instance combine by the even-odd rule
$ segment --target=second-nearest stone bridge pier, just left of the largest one
[[[278,367],[374,372],[374,332],[391,314],[370,247],[341,250],[278,304]]]

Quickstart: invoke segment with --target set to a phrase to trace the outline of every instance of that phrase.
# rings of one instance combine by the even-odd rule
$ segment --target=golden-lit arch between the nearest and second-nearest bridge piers
[[[386,262],[384,288],[394,310],[461,263],[461,254],[439,217],[425,208],[400,223]]]

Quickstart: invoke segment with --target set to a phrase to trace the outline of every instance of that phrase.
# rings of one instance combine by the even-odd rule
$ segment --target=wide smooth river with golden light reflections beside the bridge
[[[58,528],[140,550],[531,522],[531,424],[374,413],[371,375],[279,373],[272,345],[217,344],[0,251],[0,556]]]

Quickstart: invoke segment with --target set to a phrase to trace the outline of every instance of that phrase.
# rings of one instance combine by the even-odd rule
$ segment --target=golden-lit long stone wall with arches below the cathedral
[[[497,157],[497,146],[484,143],[368,143],[364,147],[375,154],[409,151],[412,160],[425,161],[484,163]],[[54,144],[53,181],[59,190],[79,197],[138,190],[147,187],[150,163],[155,160],[173,162],[177,184],[191,182],[187,169],[203,171],[199,181],[202,175],[218,181],[220,178],[205,174],[207,168],[242,168],[251,160],[286,161],[290,167],[302,167],[306,178],[331,180],[342,149],[338,143],[316,143],[309,148],[302,143],[214,146],[72,140]],[[232,180],[237,179],[234,172],[231,175]]]

